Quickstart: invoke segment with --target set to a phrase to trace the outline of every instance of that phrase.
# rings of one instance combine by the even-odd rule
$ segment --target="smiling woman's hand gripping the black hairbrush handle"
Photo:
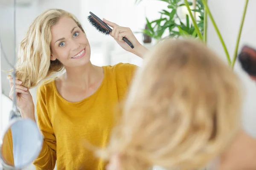
[[[116,23],[112,23],[106,19],[103,19],[103,22],[113,27],[112,32],[109,34],[123,49],[143,58],[143,55],[148,51],[148,49],[140,44],[130,28],[118,26]],[[134,45],[134,48],[131,48],[124,40],[122,40],[123,37],[127,38],[127,40]]]

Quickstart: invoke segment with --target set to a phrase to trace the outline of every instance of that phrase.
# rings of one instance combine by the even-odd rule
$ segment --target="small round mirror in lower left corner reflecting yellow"
[[[43,136],[31,119],[16,119],[4,133],[0,158],[4,166],[24,168],[31,164],[41,151]]]

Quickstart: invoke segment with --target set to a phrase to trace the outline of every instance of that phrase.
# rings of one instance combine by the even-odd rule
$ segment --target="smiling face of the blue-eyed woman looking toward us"
[[[65,68],[78,67],[90,61],[90,44],[73,19],[61,17],[52,26],[51,34],[51,60],[58,59]]]

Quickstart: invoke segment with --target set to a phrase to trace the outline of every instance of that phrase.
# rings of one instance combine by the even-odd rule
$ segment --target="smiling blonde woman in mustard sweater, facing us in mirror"
[[[111,36],[125,50],[143,57],[147,49],[130,28],[104,20],[113,27]],[[122,37],[133,45],[132,49]],[[42,80],[37,90],[37,123],[44,144],[34,164],[37,170],[103,170],[105,162],[84,147],[89,141],[104,147],[114,123],[112,115],[131,82],[135,65],[119,63],[98,67],[90,62],[90,44],[75,16],[49,9],[35,18],[20,43],[17,62],[17,104],[23,118],[35,120],[29,88]],[[13,84],[10,78],[11,86]]]

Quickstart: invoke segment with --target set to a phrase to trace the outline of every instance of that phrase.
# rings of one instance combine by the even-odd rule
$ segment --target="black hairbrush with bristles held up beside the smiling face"
[[[92,12],[89,12],[89,13],[90,15],[87,17],[89,23],[92,26],[94,26],[99,32],[105,35],[108,35],[109,32],[112,32],[112,29],[106,23],[104,23],[101,19],[99,19],[99,17],[97,17]],[[129,40],[127,40],[127,38],[123,37],[122,40],[124,40],[131,48],[134,48],[132,43]]]

